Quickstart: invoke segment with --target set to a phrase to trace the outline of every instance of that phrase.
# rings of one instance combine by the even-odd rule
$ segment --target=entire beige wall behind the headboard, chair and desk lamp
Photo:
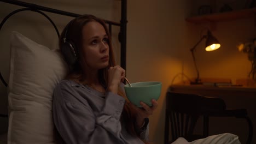
[[[27,1],[31,2],[31,1]],[[99,17],[119,21],[120,2],[112,0],[88,1],[34,1],[46,7],[72,11],[73,13],[91,13]],[[2,7],[3,5],[3,7]],[[1,3],[0,17],[4,17],[16,8]],[[181,73],[196,76],[189,49],[200,39],[205,25],[185,22],[185,17],[194,14],[197,5],[189,0],[181,1],[128,1],[127,2],[127,77],[131,82],[161,81],[162,93],[159,106],[150,116],[150,141],[164,142],[165,92],[171,83],[186,80]],[[27,17],[24,19],[24,15]],[[71,20],[66,16],[50,14],[60,30]],[[38,22],[39,21],[39,22]],[[220,22],[213,34],[222,43],[218,51],[206,53],[199,45],[196,59],[202,77],[229,77],[232,81],[246,78],[250,63],[245,53],[238,52],[236,43],[246,41],[255,35],[253,19]],[[206,25],[207,26],[207,25]],[[57,37],[53,27],[43,17],[31,12],[22,12],[5,23],[1,33],[0,65],[1,73],[8,79],[9,49],[8,37],[11,31],[19,31],[40,44],[56,47]],[[116,32],[117,33],[117,32]],[[53,35],[53,37],[49,37]],[[117,39],[114,45],[118,49]],[[118,55],[118,54],[117,54]],[[118,56],[117,56],[118,57]],[[119,57],[118,57],[119,58]],[[118,59],[119,60],[119,59]],[[176,77],[175,79],[173,79]],[[0,85],[0,112],[7,111],[7,91]],[[2,123],[1,123],[2,124]],[[2,127],[2,126],[1,126]]]

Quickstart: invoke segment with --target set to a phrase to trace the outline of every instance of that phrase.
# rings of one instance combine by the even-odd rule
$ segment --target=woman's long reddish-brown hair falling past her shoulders
[[[67,75],[66,79],[69,80],[74,80],[78,83],[82,84],[88,84],[85,83],[85,77],[86,77],[86,63],[84,61],[84,51],[83,51],[83,43],[82,43],[82,29],[86,25],[86,23],[91,22],[91,21],[96,21],[100,23],[107,35],[108,35],[108,45],[109,45],[109,62],[108,62],[108,67],[99,70],[98,72],[98,77],[99,80],[102,84],[103,87],[107,88],[108,87],[108,69],[109,67],[115,66],[115,59],[114,59],[114,53],[113,53],[113,47],[112,47],[112,42],[111,42],[111,35],[108,31],[108,28],[106,26],[106,23],[99,19],[98,17],[95,17],[93,15],[82,15],[77,18],[75,18],[71,24],[67,25],[62,33],[61,37],[59,40],[59,46],[60,49],[62,49],[64,45],[63,38],[66,36],[66,39],[68,41],[72,41],[72,44],[74,45],[74,49],[78,54],[78,62],[75,63],[74,65],[69,65],[72,66],[72,69],[70,69],[69,74]],[[68,33],[67,33],[68,31]],[[124,109],[121,115],[121,119],[125,123],[125,127],[130,135],[137,136],[139,137],[139,134],[136,133],[135,127],[136,127],[136,112],[134,109],[132,109],[130,105],[129,100],[127,100],[124,92],[121,90],[121,88],[118,89],[118,94],[121,95],[121,97],[124,97],[126,99],[126,103],[124,105]],[[144,140],[143,140],[144,141]],[[146,141],[144,141],[147,143]]]

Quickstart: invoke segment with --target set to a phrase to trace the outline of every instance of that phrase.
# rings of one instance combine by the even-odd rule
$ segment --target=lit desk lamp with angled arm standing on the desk
[[[190,82],[191,85],[200,85],[200,84],[202,84],[201,79],[199,78],[199,70],[197,69],[194,51],[195,51],[196,46],[199,45],[203,39],[206,39],[206,43],[205,43],[205,50],[206,51],[214,51],[214,50],[219,49],[219,47],[220,47],[219,41],[215,37],[213,37],[212,33],[208,30],[207,34],[203,35],[203,37],[195,44],[195,46],[193,46],[190,49],[190,51],[192,53],[194,65],[195,65],[195,68],[196,68],[196,73],[197,73],[197,77],[196,77],[195,81]]]

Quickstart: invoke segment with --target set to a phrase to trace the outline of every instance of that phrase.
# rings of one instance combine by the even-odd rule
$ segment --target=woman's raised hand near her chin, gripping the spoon
[[[117,93],[121,81],[124,80],[125,70],[119,65],[110,67],[108,70],[108,91]]]

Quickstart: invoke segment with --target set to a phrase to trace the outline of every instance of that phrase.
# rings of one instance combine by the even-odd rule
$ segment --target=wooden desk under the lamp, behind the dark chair
[[[214,87],[203,85],[172,85],[168,91],[200,94],[222,98],[227,109],[247,109],[254,127],[252,143],[256,143],[256,87]],[[202,119],[199,119],[195,133],[201,133]],[[211,117],[209,134],[232,133],[239,136],[241,143],[246,143],[248,125],[245,119]]]

